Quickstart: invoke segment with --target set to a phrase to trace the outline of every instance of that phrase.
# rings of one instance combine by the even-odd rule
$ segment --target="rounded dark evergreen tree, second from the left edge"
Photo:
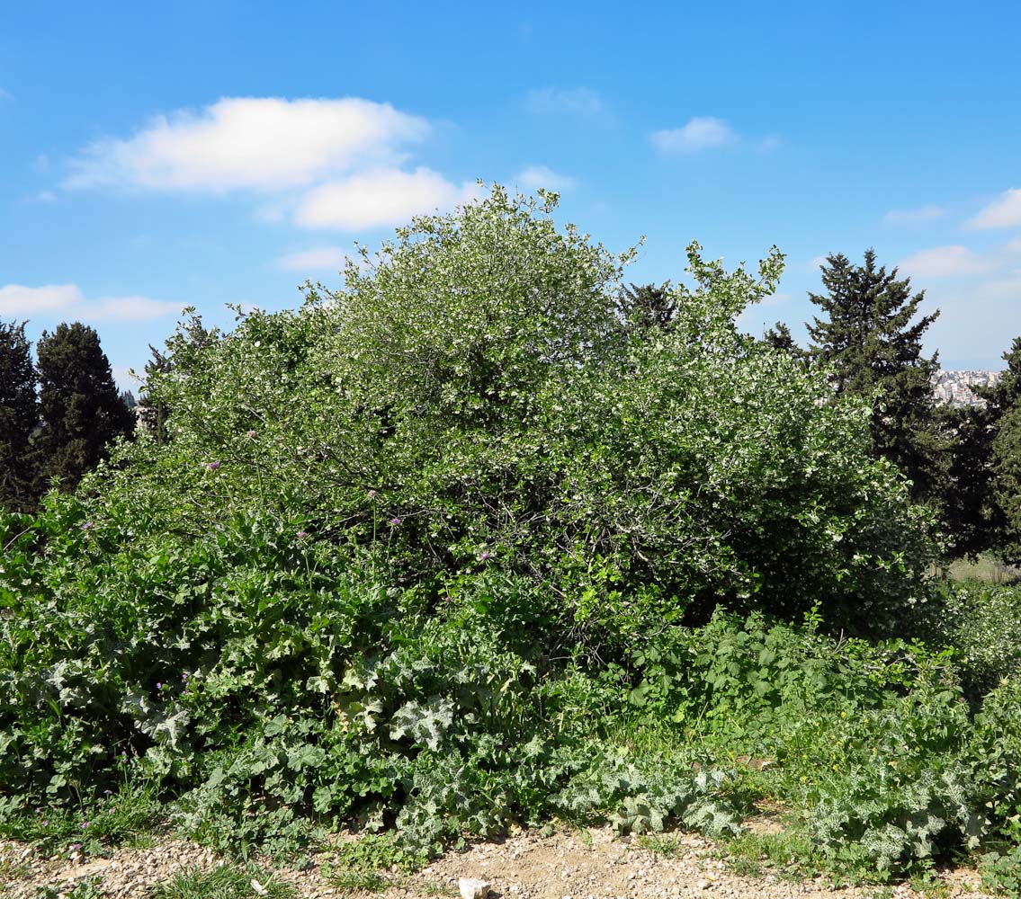
[[[96,332],[81,322],[60,324],[39,339],[39,402],[42,430],[36,441],[38,469],[72,490],[106,458],[107,444],[131,434],[134,414],[120,399],[110,362]]]

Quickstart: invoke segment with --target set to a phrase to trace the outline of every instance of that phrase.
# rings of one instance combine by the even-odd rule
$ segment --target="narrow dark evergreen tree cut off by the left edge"
[[[31,508],[32,434],[39,423],[36,368],[25,323],[0,321],[0,508]]]

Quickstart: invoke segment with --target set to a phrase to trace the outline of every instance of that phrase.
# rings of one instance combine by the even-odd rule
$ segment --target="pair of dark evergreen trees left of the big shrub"
[[[50,487],[74,490],[135,429],[99,336],[80,322],[43,332],[37,358],[25,322],[0,321],[0,507],[35,508]]]

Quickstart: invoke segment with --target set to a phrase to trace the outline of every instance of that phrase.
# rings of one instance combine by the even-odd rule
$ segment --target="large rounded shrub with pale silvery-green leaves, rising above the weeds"
[[[385,546],[404,583],[497,564],[583,637],[720,601],[877,627],[922,599],[924,515],[868,459],[867,409],[734,324],[779,254],[753,278],[693,245],[670,326],[629,328],[629,254],[552,206],[494,189],[298,312],[185,326],[149,385],[168,442],[92,490],[171,530],[247,507]]]

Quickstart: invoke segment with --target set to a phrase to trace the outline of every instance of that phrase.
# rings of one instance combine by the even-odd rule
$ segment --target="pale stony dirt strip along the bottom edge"
[[[448,853],[415,875],[394,876],[392,885],[376,895],[381,899],[456,896],[463,877],[487,881],[496,899],[871,899],[883,895],[920,899],[926,895],[907,886],[891,892],[876,887],[834,890],[821,879],[791,883],[773,876],[741,877],[713,857],[710,841],[694,835],[673,839],[676,854],[668,857],[642,849],[632,840],[616,838],[610,828],[550,837],[523,833],[500,843]],[[278,869],[278,876],[294,884],[304,899],[343,896],[345,891],[322,875],[322,864],[329,860],[330,853],[323,853],[307,869]],[[95,878],[105,896],[143,899],[147,887],[172,878],[182,867],[207,868],[218,861],[206,849],[174,841],[152,849],[116,850],[110,858],[71,860],[39,858],[23,844],[5,843],[0,844],[0,895],[28,899],[42,886],[66,891]],[[971,871],[947,875],[944,884],[944,896],[985,896]]]

